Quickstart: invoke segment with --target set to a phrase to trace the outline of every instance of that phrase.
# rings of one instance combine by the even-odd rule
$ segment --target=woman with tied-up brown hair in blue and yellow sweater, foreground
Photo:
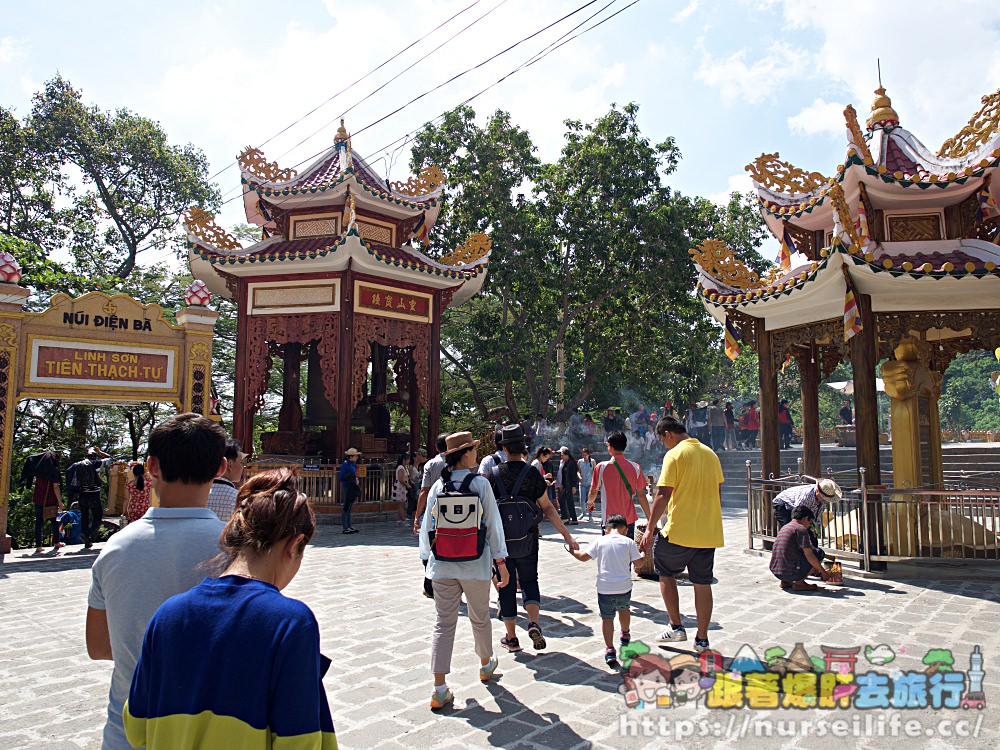
[[[168,599],[149,622],[124,710],[133,747],[337,747],[319,626],[280,593],[315,528],[288,469],[244,483],[219,538],[222,576]]]

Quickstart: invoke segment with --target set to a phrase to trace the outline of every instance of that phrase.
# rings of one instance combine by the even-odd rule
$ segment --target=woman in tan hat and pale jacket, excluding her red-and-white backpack
[[[420,524],[420,557],[427,560],[427,577],[434,581],[434,606],[437,620],[431,636],[431,671],[434,673],[434,691],[431,694],[431,709],[441,709],[455,700],[454,694],[445,683],[445,676],[451,671],[451,656],[455,645],[455,627],[458,624],[458,608],[465,595],[472,633],[475,638],[476,655],[479,656],[479,679],[489,681],[497,669],[497,658],[493,654],[493,629],[490,623],[490,581],[493,579],[494,565],[499,571],[498,586],[507,585],[507,543],[504,540],[503,524],[496,498],[486,477],[477,473],[476,446],[478,440],[471,432],[456,432],[446,439],[446,449],[442,453],[445,468],[431,488],[427,497],[427,509]],[[470,474],[474,476],[465,487]],[[449,490],[462,488],[479,497],[482,506],[482,522],[486,526],[486,543],[482,554],[465,562],[438,560],[431,546],[430,530],[432,519],[437,518],[438,495]]]

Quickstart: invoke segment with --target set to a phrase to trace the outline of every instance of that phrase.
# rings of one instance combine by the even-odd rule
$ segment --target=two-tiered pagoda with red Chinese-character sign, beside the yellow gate
[[[353,153],[343,121],[301,174],[249,147],[239,164],[261,241],[243,247],[198,209],[185,222],[192,273],[237,305],[234,437],[251,445],[278,357],[282,402],[265,454],[385,456],[433,442],[441,314],[482,287],[489,238],[437,260],[414,248],[437,219],[441,171],[388,183]]]

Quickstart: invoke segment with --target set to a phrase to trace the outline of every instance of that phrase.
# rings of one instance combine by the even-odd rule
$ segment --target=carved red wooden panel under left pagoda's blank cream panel
[[[316,341],[323,377],[323,392],[331,404],[337,403],[340,351],[340,314],[314,313],[295,316],[252,316],[247,319],[247,402],[254,414],[264,405],[264,393],[271,374],[271,357],[284,344]]]

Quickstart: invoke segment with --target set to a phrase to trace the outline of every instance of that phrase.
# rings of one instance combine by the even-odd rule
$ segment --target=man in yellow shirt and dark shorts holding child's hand
[[[694,586],[694,608],[698,620],[694,650],[708,649],[708,624],[712,620],[712,577],[715,550],[722,540],[722,465],[711,448],[687,434],[672,417],[656,424],[656,435],[667,447],[663,470],[649,524],[639,548],[653,546],[653,568],[660,576],[660,595],[670,615],[670,627],[657,641],[686,641],[681,624],[680,600],[675,576],[687,569]],[[667,511],[663,530],[656,536],[656,522]]]

